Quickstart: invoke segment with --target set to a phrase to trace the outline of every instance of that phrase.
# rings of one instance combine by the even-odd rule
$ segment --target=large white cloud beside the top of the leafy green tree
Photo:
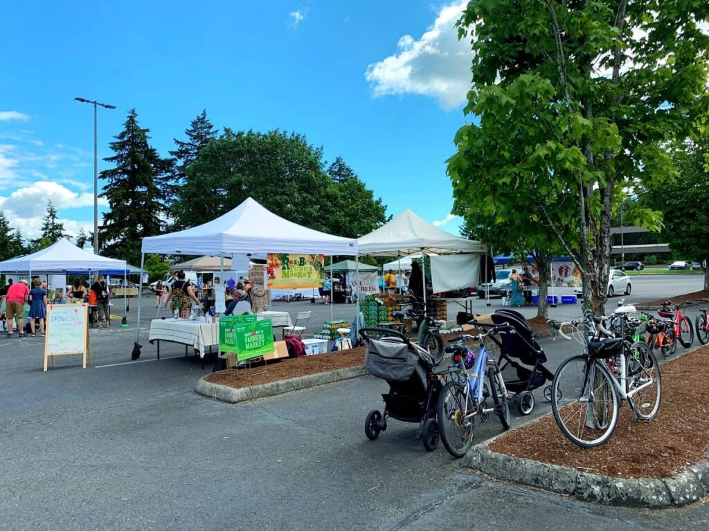
[[[458,39],[455,22],[467,4],[442,7],[420,39],[403,35],[396,54],[370,64],[365,77],[374,96],[423,94],[437,98],[446,110],[462,105],[470,89],[473,52],[468,39]]]

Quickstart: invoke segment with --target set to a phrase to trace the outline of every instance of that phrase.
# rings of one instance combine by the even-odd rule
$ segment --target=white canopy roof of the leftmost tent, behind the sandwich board
[[[125,270],[125,260],[99,256],[72,244],[67,239],[33,254],[0,262],[3,273],[64,273],[65,271]]]

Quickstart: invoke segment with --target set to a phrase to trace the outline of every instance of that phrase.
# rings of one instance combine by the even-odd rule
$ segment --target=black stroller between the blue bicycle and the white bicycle
[[[493,338],[500,347],[498,367],[505,380],[505,387],[514,394],[517,409],[523,415],[529,415],[534,409],[535,399],[532,391],[551,382],[554,375],[545,367],[547,355],[537,343],[532,327],[527,319],[512,309],[498,309],[492,314],[494,324],[508,324],[515,333],[503,333],[500,339]],[[514,359],[513,359],[514,358]],[[517,360],[517,361],[515,361]],[[552,400],[552,386],[544,389],[544,397]]]

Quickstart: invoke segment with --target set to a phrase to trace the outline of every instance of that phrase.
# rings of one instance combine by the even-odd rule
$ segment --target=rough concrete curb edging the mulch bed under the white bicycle
[[[536,418],[532,423],[549,414]],[[525,423],[515,429],[528,425],[529,423]],[[698,501],[709,493],[709,460],[693,464],[669,478],[612,478],[580,472],[574,467],[512,457],[490,450],[489,445],[506,433],[510,432],[503,432],[481,445],[472,447],[463,458],[463,465],[505,481],[610,506],[681,507]]]

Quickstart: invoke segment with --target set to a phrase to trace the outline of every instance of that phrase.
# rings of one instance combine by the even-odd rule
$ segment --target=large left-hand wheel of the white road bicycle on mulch
[[[579,355],[559,365],[552,382],[552,411],[559,429],[575,445],[592,448],[606,442],[618,424],[618,406],[603,363]]]

